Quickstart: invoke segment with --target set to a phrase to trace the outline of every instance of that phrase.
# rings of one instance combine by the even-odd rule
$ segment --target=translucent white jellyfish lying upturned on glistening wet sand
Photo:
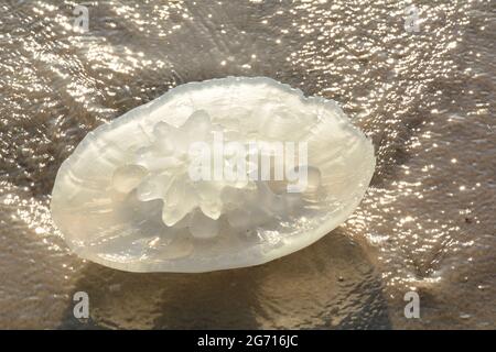
[[[358,206],[374,168],[370,141],[334,101],[228,77],[179,86],[88,133],[51,208],[84,258],[207,272],[315,242]]]

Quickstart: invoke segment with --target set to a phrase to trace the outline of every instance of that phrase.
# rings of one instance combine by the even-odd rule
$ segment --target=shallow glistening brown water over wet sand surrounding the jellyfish
[[[496,328],[492,1],[0,4],[0,328]],[[411,28],[409,28],[410,30]],[[71,254],[50,194],[87,132],[187,81],[338,101],[377,169],[348,221],[266,265],[132,274]],[[73,317],[88,293],[90,319]],[[420,319],[403,296],[417,290]]]

